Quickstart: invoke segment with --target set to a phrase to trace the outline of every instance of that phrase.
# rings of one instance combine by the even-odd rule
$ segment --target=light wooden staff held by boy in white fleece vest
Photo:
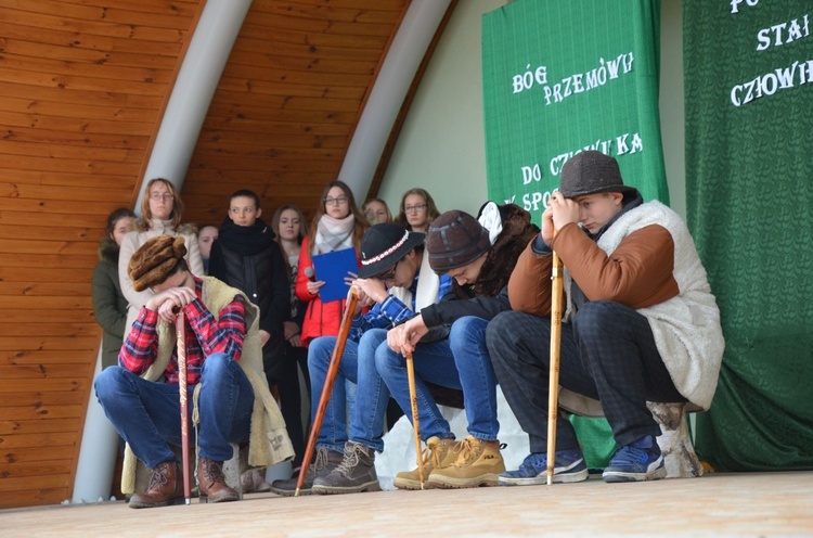
[[[556,231],[553,232],[554,238]],[[547,485],[553,484],[553,467],[556,462],[556,420],[559,414],[559,351],[562,348],[562,295],[563,265],[556,251],[553,252],[551,272],[551,373],[547,385]]]

